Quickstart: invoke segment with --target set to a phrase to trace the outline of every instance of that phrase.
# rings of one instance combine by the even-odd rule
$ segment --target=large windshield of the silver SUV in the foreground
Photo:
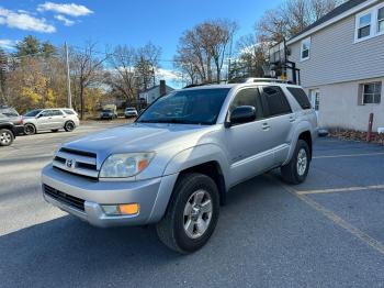
[[[229,88],[174,91],[159,98],[138,118],[144,123],[216,123]]]

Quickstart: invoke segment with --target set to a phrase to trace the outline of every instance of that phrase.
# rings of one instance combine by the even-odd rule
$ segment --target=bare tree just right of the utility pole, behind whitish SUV
[[[82,51],[74,51],[71,53],[71,76],[74,78],[75,93],[80,100],[80,118],[83,119],[86,99],[86,88],[100,82],[102,77],[103,63],[108,58],[103,55],[97,57],[97,44],[88,42]]]

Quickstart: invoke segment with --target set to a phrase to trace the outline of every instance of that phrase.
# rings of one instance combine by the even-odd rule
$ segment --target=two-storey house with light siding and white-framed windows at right
[[[280,44],[270,51],[282,53]],[[286,41],[320,126],[384,126],[384,1],[350,0]],[[273,56],[274,55],[274,56]],[[286,70],[293,79],[292,70]],[[297,77],[298,75],[296,75]]]

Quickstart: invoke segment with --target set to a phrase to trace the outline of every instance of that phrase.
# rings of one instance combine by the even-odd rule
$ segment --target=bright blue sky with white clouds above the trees
[[[238,22],[237,36],[253,31],[263,11],[281,0],[0,0],[0,45],[9,47],[32,34],[56,45],[82,46],[87,40],[105,46],[142,46],[148,41],[172,59],[183,31],[207,19]],[[161,63],[171,69],[172,64]]]

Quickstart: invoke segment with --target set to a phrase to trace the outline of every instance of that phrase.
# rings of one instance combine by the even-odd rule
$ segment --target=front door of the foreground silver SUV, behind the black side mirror
[[[225,130],[225,143],[230,162],[233,186],[268,169],[273,165],[270,149],[271,131],[263,121],[260,93],[257,88],[245,88],[237,92],[228,114],[239,106],[252,106],[257,118],[252,122],[231,125]]]

